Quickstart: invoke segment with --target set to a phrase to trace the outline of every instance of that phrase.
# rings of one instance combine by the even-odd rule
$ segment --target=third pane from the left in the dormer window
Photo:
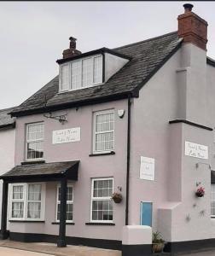
[[[82,87],[87,87],[93,84],[92,58],[83,60],[82,65]]]

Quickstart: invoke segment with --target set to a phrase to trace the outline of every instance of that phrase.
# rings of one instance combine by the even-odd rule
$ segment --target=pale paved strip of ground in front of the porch
[[[55,256],[121,256],[121,251],[101,249],[95,247],[71,246],[56,247],[55,243],[20,242],[0,240],[0,247],[9,247],[24,251],[46,253]]]

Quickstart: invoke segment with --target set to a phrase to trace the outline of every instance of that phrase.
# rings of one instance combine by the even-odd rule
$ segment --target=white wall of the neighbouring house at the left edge
[[[15,129],[0,130],[0,142],[0,175],[2,175],[15,166]],[[0,216],[2,213],[2,191],[3,181],[0,180]]]

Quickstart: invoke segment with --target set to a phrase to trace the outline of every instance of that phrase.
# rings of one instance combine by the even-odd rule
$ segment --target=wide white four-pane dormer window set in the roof
[[[94,55],[60,66],[60,91],[102,84],[102,55]]]

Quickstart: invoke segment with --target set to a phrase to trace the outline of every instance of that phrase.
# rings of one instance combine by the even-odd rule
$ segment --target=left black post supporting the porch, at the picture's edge
[[[2,223],[1,223],[1,234],[0,239],[4,240],[9,237],[7,232],[7,212],[8,212],[8,194],[9,194],[9,183],[3,181],[3,201],[2,201]]]

